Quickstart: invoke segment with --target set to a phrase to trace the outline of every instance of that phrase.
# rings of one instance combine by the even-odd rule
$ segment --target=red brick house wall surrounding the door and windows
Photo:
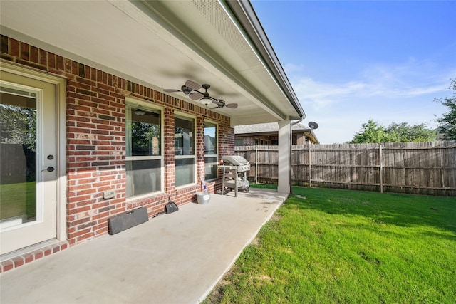
[[[219,123],[219,157],[234,153],[234,129],[229,117],[185,100],[133,83],[63,58],[27,43],[1,36],[1,58],[47,73],[61,75],[66,85],[67,127],[67,234],[70,245],[106,234],[108,219],[138,206],[150,216],[163,211],[167,194],[177,204],[196,201],[201,185],[175,189],[174,112],[195,115],[197,127],[197,177],[204,177],[204,118]],[[167,194],[126,201],[125,197],[125,96],[165,107],[164,162]],[[210,191],[220,182],[207,183]],[[115,198],[103,199],[114,189]]]

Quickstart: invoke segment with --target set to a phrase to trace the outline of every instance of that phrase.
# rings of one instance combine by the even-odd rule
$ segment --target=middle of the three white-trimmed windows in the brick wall
[[[183,115],[174,118],[175,186],[195,183],[195,119]]]

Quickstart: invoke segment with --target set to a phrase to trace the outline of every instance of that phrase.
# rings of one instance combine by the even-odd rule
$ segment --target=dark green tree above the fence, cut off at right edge
[[[456,140],[456,78],[450,80],[450,90],[453,90],[452,98],[435,98],[435,102],[445,105],[450,110],[443,114],[442,117],[437,118],[437,122],[440,123],[440,132],[443,134],[445,140]]]

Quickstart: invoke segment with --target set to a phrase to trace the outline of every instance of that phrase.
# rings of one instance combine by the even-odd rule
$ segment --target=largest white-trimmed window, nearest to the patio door
[[[162,110],[128,102],[125,116],[127,199],[162,191]]]

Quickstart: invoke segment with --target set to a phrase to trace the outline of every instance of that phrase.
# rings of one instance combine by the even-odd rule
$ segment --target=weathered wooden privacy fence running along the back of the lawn
[[[278,146],[238,146],[251,182],[276,183]],[[291,179],[301,186],[456,196],[456,141],[296,145]]]

